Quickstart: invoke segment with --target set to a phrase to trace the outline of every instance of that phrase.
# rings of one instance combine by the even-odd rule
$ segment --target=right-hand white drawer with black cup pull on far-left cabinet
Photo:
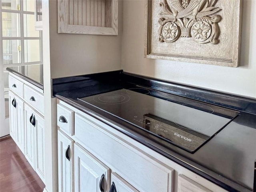
[[[24,85],[24,100],[44,115],[44,95],[26,84]]]

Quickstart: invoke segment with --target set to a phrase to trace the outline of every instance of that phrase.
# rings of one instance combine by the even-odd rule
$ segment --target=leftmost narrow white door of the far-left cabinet
[[[16,107],[15,95],[9,91],[10,136],[16,141]]]

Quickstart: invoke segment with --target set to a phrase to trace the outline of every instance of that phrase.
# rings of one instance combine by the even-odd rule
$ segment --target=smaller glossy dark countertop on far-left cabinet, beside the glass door
[[[44,89],[42,64],[8,67],[6,70],[30,82],[33,85]]]

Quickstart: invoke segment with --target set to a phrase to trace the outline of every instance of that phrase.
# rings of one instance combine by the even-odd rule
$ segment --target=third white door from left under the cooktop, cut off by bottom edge
[[[114,187],[116,188],[117,192],[139,192],[115,172],[112,172],[111,174],[111,181],[112,185],[110,187],[110,192]]]

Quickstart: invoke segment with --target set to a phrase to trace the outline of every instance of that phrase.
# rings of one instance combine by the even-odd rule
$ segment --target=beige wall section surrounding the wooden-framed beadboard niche
[[[118,2],[118,36],[58,34],[57,1],[49,2],[52,78],[121,69],[122,1]]]

